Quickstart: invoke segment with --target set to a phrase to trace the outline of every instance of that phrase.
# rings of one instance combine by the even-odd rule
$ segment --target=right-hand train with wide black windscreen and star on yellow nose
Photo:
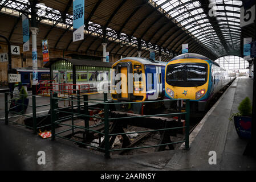
[[[192,109],[204,111],[220,89],[235,78],[214,61],[196,53],[174,57],[165,68],[165,96],[190,99]]]

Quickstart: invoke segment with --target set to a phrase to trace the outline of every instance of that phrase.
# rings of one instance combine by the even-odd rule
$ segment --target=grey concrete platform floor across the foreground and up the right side
[[[256,161],[243,156],[247,140],[239,139],[231,113],[237,111],[244,97],[252,98],[253,81],[239,77],[226,90],[204,118],[200,129],[192,133],[190,150],[163,151],[130,156],[112,155],[79,148],[74,143],[56,138],[42,139],[21,126],[0,121],[0,169],[18,170],[255,170]],[[47,101],[46,101],[47,102]],[[40,103],[43,104],[43,103]],[[0,118],[4,117],[3,94],[0,94]],[[192,140],[192,139],[191,139]],[[38,151],[46,153],[46,164],[38,165]],[[217,164],[208,163],[209,151],[217,152]]]

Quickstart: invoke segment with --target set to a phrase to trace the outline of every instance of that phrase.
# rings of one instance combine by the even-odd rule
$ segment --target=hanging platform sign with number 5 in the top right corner
[[[251,6],[250,9],[245,10],[244,7],[241,7],[240,10],[240,27],[248,26],[254,23],[255,20],[255,5]]]

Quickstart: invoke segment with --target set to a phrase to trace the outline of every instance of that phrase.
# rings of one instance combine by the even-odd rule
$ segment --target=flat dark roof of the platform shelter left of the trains
[[[111,68],[112,64],[111,62],[103,62],[103,61],[98,61],[98,60],[81,60],[81,59],[70,59],[70,58],[63,58],[63,57],[57,57],[54,59],[50,59],[44,67],[45,68],[50,68],[53,63],[56,61],[69,61],[71,64],[76,65],[76,66],[86,66],[86,67],[108,67]]]

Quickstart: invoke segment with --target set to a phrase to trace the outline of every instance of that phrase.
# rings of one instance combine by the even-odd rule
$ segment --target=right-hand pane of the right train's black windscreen
[[[206,64],[186,64],[186,80],[187,81],[206,81],[207,79]]]

